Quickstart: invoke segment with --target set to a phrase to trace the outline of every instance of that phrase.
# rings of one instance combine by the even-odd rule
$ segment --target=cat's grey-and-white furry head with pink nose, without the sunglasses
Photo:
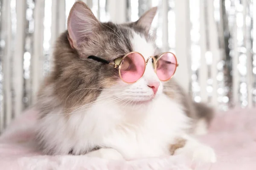
[[[154,37],[149,34],[157,8],[148,10],[134,23],[101,23],[81,1],[70,10],[68,30],[56,44],[55,68],[52,80],[55,93],[69,107],[90,103],[101,93],[106,100],[138,105],[150,102],[163,91],[163,82],[157,77],[151,59],[145,72],[135,83],[126,83],[119,71],[88,56],[97,56],[114,64],[131,51],[137,51],[145,60],[159,54]]]

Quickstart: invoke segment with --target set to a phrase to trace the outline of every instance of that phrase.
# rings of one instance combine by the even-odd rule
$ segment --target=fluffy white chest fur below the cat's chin
[[[116,149],[126,159],[168,154],[169,144],[187,126],[180,105],[164,94],[140,108],[99,100],[68,117],[54,111],[39,124],[47,146],[57,154],[102,146]]]

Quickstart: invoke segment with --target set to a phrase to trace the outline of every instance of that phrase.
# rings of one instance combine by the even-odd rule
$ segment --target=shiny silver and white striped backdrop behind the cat
[[[84,1],[99,20],[116,23],[136,21],[159,6],[157,45],[175,52],[175,77],[194,100],[221,110],[256,105],[256,1]],[[74,2],[0,0],[0,130],[35,102]]]

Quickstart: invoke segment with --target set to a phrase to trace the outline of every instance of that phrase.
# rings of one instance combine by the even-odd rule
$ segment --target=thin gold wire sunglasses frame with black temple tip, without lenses
[[[118,72],[119,72],[119,77],[120,77],[120,79],[121,79],[123,82],[125,82],[125,83],[132,84],[132,83],[138,82],[138,81],[143,77],[143,74],[142,74],[142,76],[140,77],[140,79],[138,79],[138,80],[135,81],[135,82],[126,82],[125,80],[122,79],[122,76],[121,76],[121,67],[122,67],[121,63],[123,62],[123,60],[125,59],[125,57],[127,57],[128,55],[133,54],[133,53],[139,54],[139,55],[143,58],[143,60],[144,60],[145,67],[144,67],[143,74],[145,73],[145,70],[146,70],[146,66],[147,66],[147,64],[148,64],[148,61],[149,61],[149,59],[151,59],[151,58],[152,58],[153,61],[154,61],[154,72],[157,74],[157,62],[158,62],[158,60],[159,60],[161,57],[163,57],[164,54],[167,54],[167,53],[172,54],[172,55],[174,56],[174,58],[175,58],[175,61],[176,61],[176,63],[175,63],[175,71],[173,72],[172,76],[171,76],[169,79],[171,79],[171,78],[174,76],[174,74],[175,74],[175,72],[176,72],[176,69],[177,69],[177,67],[179,66],[179,64],[177,63],[177,58],[176,58],[175,54],[173,54],[172,52],[165,52],[165,53],[162,53],[159,57],[157,57],[157,60],[155,59],[154,56],[150,56],[150,57],[148,57],[147,60],[145,60],[145,58],[143,57],[143,55],[140,54],[139,52],[131,51],[131,52],[129,52],[128,54],[126,54],[124,57],[122,57],[122,59],[120,60],[119,65],[113,64],[113,63],[111,63],[111,62],[109,62],[109,61],[107,61],[107,60],[105,60],[105,59],[102,59],[102,58],[99,58],[99,57],[96,57],[96,56],[89,56],[88,58],[94,59],[94,60],[99,61],[99,62],[103,62],[103,63],[105,63],[105,64],[112,65],[114,68],[118,68]],[[172,64],[174,64],[174,63],[172,63]],[[159,77],[158,77],[158,78],[159,78]],[[166,82],[166,81],[168,81],[169,79],[167,79],[167,80],[161,80],[161,79],[160,79],[160,81]]]

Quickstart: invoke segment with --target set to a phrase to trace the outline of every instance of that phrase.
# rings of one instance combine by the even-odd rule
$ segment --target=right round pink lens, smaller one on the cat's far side
[[[177,60],[174,54],[165,53],[157,61],[157,77],[161,81],[169,80],[175,73]]]

